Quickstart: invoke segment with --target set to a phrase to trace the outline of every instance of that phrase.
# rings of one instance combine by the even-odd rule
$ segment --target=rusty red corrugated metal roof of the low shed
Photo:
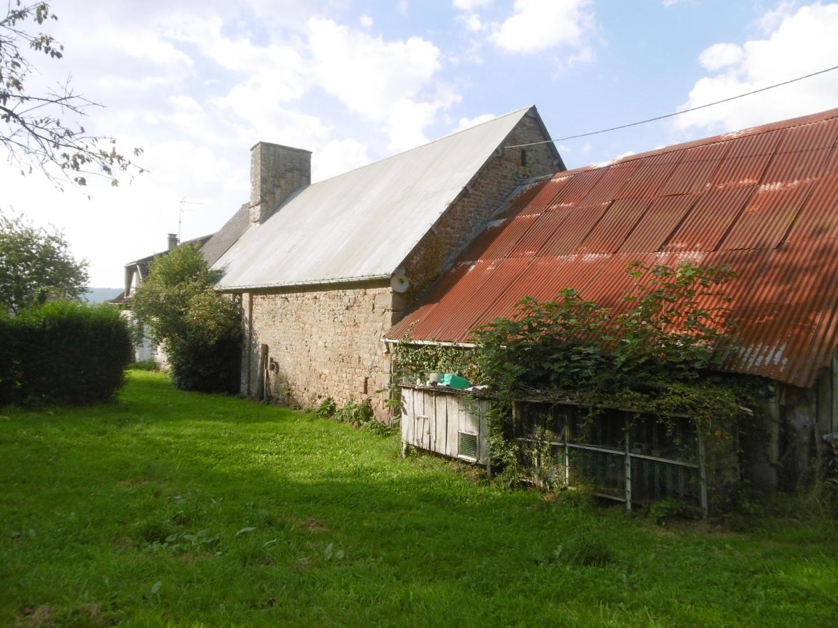
[[[487,229],[472,270],[443,275],[435,290],[454,286],[433,305],[423,297],[388,337],[416,317],[414,338],[463,341],[514,316],[522,297],[566,287],[620,311],[633,260],[729,264],[740,350],[726,368],[811,386],[838,347],[836,140],[833,110],[561,172]]]

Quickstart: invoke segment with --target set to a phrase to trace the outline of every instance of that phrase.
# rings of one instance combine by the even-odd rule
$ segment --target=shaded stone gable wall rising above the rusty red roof
[[[545,139],[535,118],[524,116],[504,142],[515,146]],[[521,153],[526,152],[525,160]],[[556,172],[560,165],[554,161],[546,144],[526,148],[504,149],[484,166],[460,198],[437,220],[430,231],[408,255],[403,266],[411,280],[408,301],[416,298],[474,239],[489,216],[515,191],[525,179]],[[525,164],[522,163],[525,161]]]

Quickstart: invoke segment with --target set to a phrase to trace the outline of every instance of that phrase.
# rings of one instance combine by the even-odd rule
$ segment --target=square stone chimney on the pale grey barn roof
[[[251,148],[251,222],[264,223],[292,193],[311,181],[311,151],[256,144]]]

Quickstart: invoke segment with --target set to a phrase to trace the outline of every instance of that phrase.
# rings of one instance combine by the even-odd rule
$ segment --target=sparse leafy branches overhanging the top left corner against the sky
[[[39,169],[59,188],[60,175],[76,185],[87,183],[91,174],[111,179],[117,185],[118,172],[132,167],[130,159],[116,151],[116,140],[85,131],[66,118],[87,115],[96,102],[76,94],[70,81],[53,90],[32,93],[27,80],[37,67],[34,57],[43,54],[58,60],[64,46],[41,27],[57,19],[48,3],[9,3],[5,17],[0,13],[0,144],[8,150],[8,162],[22,174]],[[134,156],[142,153],[134,149]],[[141,168],[137,168],[142,172]]]

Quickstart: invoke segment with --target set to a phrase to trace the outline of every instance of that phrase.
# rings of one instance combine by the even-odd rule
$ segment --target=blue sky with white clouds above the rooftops
[[[71,72],[107,108],[85,126],[142,146],[93,198],[0,168],[0,209],[65,232],[94,286],[218,229],[259,140],[325,178],[530,104],[554,137],[701,105],[838,64],[838,3],[773,0],[57,0]],[[568,167],[838,106],[838,71],[668,121],[561,142]]]

